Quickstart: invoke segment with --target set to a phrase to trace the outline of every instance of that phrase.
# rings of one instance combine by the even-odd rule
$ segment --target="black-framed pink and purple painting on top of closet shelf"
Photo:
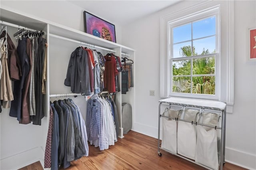
[[[116,43],[115,26],[84,11],[84,30],[86,33]]]

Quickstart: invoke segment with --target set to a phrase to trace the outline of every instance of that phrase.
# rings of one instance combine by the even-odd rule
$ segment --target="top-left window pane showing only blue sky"
[[[191,23],[172,29],[173,43],[191,40]]]

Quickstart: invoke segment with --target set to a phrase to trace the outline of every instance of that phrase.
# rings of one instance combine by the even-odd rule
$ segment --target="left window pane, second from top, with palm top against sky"
[[[191,42],[178,43],[173,45],[173,57],[187,57],[191,56]]]

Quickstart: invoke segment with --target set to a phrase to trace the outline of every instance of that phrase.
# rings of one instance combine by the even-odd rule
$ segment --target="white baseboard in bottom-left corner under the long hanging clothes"
[[[41,147],[32,148],[24,152],[2,158],[0,160],[1,170],[14,170],[28,166],[43,158],[43,151]]]

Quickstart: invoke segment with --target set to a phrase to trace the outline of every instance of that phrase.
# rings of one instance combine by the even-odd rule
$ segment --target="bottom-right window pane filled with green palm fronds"
[[[192,77],[194,94],[215,95],[215,76]]]

